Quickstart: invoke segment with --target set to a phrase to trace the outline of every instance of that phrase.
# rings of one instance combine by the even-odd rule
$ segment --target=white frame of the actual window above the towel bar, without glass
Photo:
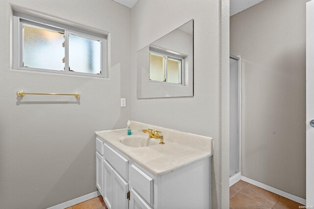
[[[30,68],[30,67],[23,66],[23,24],[64,33],[64,43],[65,43],[64,70],[48,70],[48,69]],[[94,74],[94,73],[88,73],[88,72],[76,72],[76,71],[69,70],[69,35],[70,34],[100,42],[100,45],[101,45],[101,52],[100,52],[101,73],[100,74]],[[62,60],[60,60],[60,62],[62,62]],[[42,19],[30,17],[30,16],[20,14],[20,13],[13,13],[13,69],[106,78],[107,77],[107,36],[95,34],[95,33],[88,32],[85,30],[80,30],[77,28],[72,28],[72,27],[59,24],[59,23],[52,23],[50,21],[45,21]]]

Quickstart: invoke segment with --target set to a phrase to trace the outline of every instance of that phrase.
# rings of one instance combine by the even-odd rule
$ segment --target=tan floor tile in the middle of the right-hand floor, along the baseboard
[[[258,186],[248,184],[241,191],[241,194],[244,194],[252,199],[255,199],[269,207],[273,207],[277,200],[280,198],[278,194],[272,193],[265,189],[262,189]]]

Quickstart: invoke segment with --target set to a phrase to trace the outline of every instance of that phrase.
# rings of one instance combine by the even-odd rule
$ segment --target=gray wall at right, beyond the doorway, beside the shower
[[[230,20],[242,58],[242,175],[305,198],[306,0],[264,0]]]

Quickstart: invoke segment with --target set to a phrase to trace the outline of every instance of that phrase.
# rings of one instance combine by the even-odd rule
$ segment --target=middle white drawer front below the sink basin
[[[112,149],[109,145],[104,143],[104,157],[105,160],[108,161],[112,167],[125,179],[129,180],[128,166],[129,161],[124,158],[122,155],[117,153],[114,149]]]

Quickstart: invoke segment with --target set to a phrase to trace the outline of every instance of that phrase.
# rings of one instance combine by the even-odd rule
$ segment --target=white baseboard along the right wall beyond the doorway
[[[295,195],[293,195],[293,194],[289,194],[289,193],[287,193],[287,192],[285,192],[285,191],[276,189],[276,188],[271,187],[271,186],[268,186],[268,185],[264,185],[264,184],[262,184],[262,183],[260,183],[260,182],[257,182],[257,181],[255,181],[255,180],[253,180],[253,179],[249,179],[249,178],[247,178],[247,177],[241,176],[241,180],[244,181],[244,182],[250,183],[250,184],[252,184],[252,185],[261,187],[261,188],[263,188],[263,189],[265,189],[265,190],[267,190],[267,191],[271,191],[271,192],[273,192],[273,193],[275,193],[275,194],[278,194],[278,195],[280,195],[280,196],[286,197],[286,198],[288,198],[288,199],[290,199],[290,200],[293,200],[293,201],[295,201],[295,202],[297,202],[297,203],[300,203],[300,204],[303,204],[303,205],[306,204],[306,200],[303,199],[303,198],[301,198],[301,197],[297,197],[297,196],[295,196]]]

